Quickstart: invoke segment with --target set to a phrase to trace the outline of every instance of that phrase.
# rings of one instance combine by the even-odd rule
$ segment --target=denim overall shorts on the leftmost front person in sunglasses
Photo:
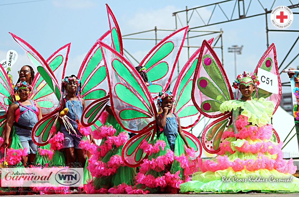
[[[19,109],[15,111],[15,122],[25,127],[33,128],[37,123],[38,109],[35,103],[30,99],[31,105],[23,106],[19,101],[14,103],[19,106]],[[23,129],[14,125],[16,134],[20,137],[20,142],[23,148],[27,148],[27,153],[36,154],[37,145],[32,141],[31,130]]]

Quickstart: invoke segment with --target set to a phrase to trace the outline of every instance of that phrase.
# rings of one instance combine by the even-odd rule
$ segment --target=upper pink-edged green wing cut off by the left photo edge
[[[10,83],[6,71],[2,65],[0,65],[0,105],[7,112],[9,105],[14,101],[16,101],[16,98],[12,84]]]

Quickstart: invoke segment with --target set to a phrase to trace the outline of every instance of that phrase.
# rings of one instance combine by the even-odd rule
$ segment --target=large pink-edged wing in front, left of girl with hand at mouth
[[[115,49],[99,41],[108,75],[113,114],[121,127],[140,133],[148,124],[155,123],[157,114],[154,101],[136,69]],[[137,128],[130,128],[128,121]]]

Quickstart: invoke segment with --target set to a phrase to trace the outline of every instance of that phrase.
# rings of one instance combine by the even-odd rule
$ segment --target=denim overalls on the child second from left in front
[[[69,112],[66,114],[71,119],[69,120],[69,122],[75,129],[78,136],[82,136],[82,134],[78,131],[78,125],[76,122],[77,119],[79,119],[79,121],[81,120],[82,111],[83,111],[83,106],[80,98],[78,98],[78,102],[70,101],[68,98],[64,98],[64,101],[65,101],[65,107],[69,108]],[[81,149],[78,147],[81,137],[77,137],[76,134],[74,134],[74,131],[72,130],[70,131],[71,134],[69,134],[69,131],[65,128],[64,124],[61,124],[60,130],[64,134],[64,148],[74,147],[75,149]]]

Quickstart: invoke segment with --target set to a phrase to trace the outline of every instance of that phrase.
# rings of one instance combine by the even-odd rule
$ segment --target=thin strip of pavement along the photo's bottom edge
[[[125,196],[125,197],[230,197],[230,196],[235,196],[235,197],[298,197],[298,193],[287,193],[287,194],[282,194],[282,193],[263,193],[263,194],[256,194],[256,193],[249,193],[249,194],[236,194],[236,193],[224,193],[224,194],[214,194],[214,193],[200,193],[200,194],[60,194],[60,195],[26,195],[26,197],[120,197],[120,196]],[[13,195],[9,195],[13,196]],[[20,197],[14,196],[14,197]],[[25,196],[24,196],[25,197]]]

